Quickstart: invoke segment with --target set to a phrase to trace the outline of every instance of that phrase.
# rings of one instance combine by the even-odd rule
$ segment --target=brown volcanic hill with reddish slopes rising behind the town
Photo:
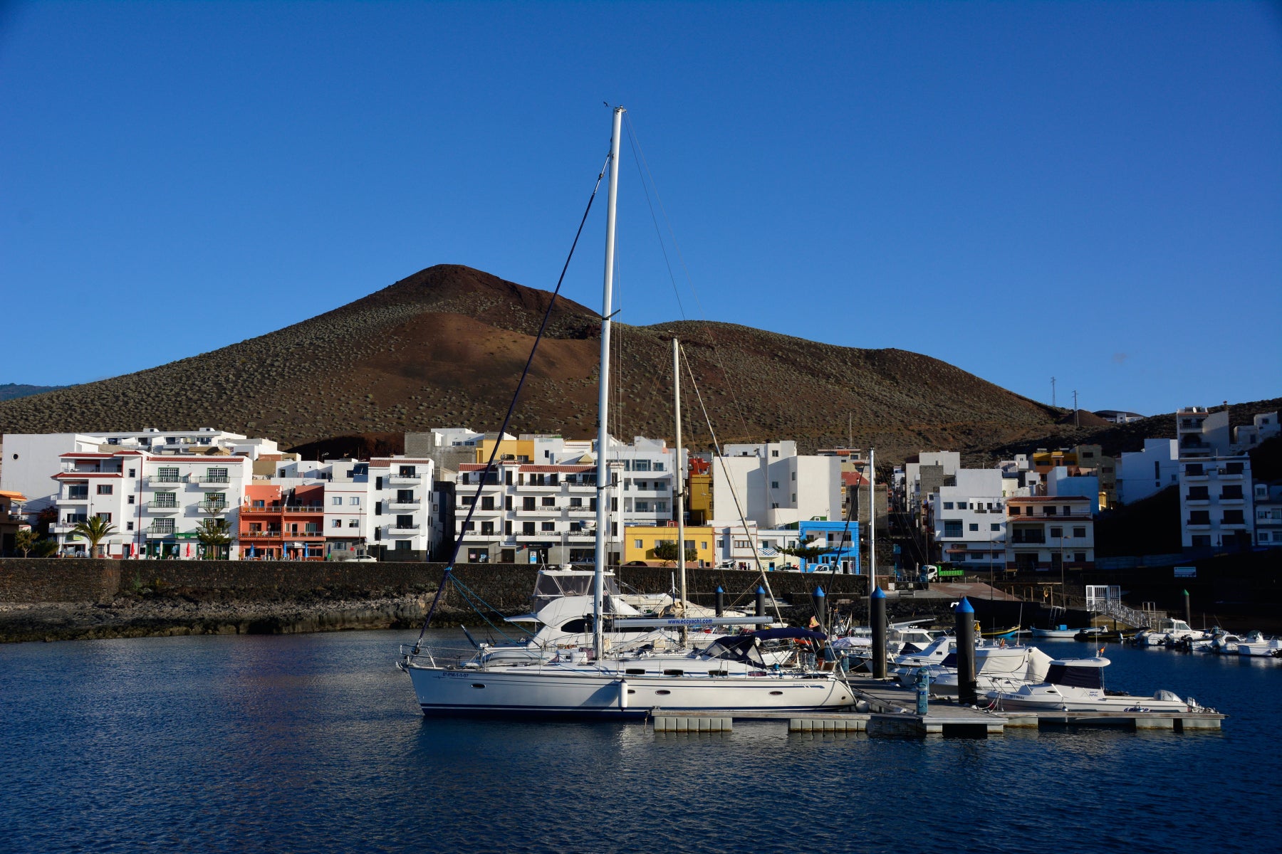
[[[551,293],[438,265],[333,311],[150,370],[0,402],[0,431],[214,426],[282,447],[429,426],[495,430]],[[612,433],[672,437],[672,337],[718,439],[978,453],[1063,416],[928,356],[723,323],[615,324]],[[595,435],[599,318],[558,298],[512,433]],[[709,434],[685,387],[691,444]]]

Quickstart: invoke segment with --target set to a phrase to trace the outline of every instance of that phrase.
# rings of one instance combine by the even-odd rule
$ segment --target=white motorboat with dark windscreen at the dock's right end
[[[1197,700],[1179,699],[1170,691],[1153,697],[1133,697],[1104,690],[1104,668],[1109,659],[1054,659],[1045,681],[1020,685],[1014,690],[990,690],[985,697],[997,711],[1031,709],[1056,712],[1201,712]]]

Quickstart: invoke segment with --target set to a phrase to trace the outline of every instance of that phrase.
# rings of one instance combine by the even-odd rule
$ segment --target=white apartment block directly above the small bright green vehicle
[[[1001,469],[958,469],[956,485],[927,497],[941,562],[963,568],[1006,565],[1006,511]]]

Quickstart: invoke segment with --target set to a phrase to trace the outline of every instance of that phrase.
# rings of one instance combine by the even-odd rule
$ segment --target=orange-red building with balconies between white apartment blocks
[[[324,484],[246,485],[238,535],[242,558],[323,561]]]

